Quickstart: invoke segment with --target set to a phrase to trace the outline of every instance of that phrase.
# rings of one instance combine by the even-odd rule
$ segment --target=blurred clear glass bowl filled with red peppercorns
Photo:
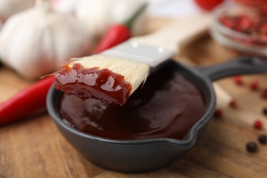
[[[218,6],[213,12],[210,34],[231,49],[267,58],[267,5],[229,2]]]

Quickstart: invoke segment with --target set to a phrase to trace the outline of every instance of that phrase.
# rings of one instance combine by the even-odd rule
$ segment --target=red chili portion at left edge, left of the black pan
[[[54,77],[40,79],[31,86],[17,92],[10,99],[0,103],[0,125],[20,120],[45,108],[47,92]]]

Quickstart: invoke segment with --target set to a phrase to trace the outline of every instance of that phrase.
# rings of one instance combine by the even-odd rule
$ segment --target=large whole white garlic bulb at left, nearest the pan
[[[37,0],[34,8],[15,14],[0,33],[0,58],[27,79],[57,71],[69,58],[90,49],[90,34],[73,16],[50,10]]]

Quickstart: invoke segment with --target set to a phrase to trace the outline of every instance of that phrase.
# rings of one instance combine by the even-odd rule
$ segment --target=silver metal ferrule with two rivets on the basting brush
[[[152,68],[156,68],[166,60],[172,58],[175,52],[165,49],[164,47],[153,47],[129,40],[118,44],[112,49],[103,51],[103,54],[115,58],[147,63]]]

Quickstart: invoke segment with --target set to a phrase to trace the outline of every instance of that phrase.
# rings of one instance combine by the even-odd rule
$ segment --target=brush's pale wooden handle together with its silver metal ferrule
[[[209,15],[188,16],[146,36],[134,37],[103,51],[104,55],[149,64],[151,71],[177,53],[179,47],[207,32]]]

